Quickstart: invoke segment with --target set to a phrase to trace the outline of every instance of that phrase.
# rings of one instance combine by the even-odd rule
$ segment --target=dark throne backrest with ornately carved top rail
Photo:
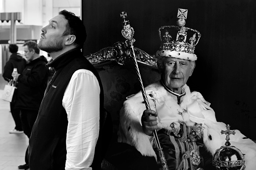
[[[154,55],[134,48],[136,60],[144,87],[160,79]],[[119,111],[126,97],[141,90],[131,48],[124,42],[86,56],[97,69],[104,88],[105,109],[113,121],[113,139],[116,139],[119,125]]]

